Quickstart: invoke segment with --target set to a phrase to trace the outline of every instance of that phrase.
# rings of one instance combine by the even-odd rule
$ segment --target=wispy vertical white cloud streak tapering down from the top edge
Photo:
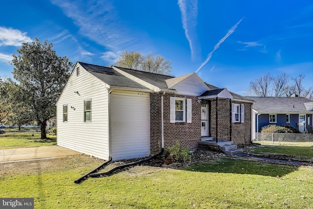
[[[191,57],[194,57],[197,45],[196,26],[198,16],[198,0],[190,0],[190,2],[186,1],[187,0],[178,0],[178,4],[181,12],[182,27],[189,42]]]

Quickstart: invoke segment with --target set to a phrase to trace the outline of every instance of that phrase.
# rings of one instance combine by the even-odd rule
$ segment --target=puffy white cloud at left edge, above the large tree
[[[0,46],[22,46],[22,43],[32,40],[20,30],[0,27]]]

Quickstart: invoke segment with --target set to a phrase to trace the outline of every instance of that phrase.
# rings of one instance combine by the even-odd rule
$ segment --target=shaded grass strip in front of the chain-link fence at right
[[[253,148],[253,153],[313,157],[313,147],[261,145]]]

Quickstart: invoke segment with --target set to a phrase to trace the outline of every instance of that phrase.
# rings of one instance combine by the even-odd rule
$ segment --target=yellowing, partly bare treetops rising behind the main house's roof
[[[122,52],[120,57],[116,60],[115,65],[122,68],[165,75],[172,73],[172,62],[170,60],[165,60],[165,58],[160,55],[154,56],[152,53],[144,56],[138,51],[128,52],[126,50]]]

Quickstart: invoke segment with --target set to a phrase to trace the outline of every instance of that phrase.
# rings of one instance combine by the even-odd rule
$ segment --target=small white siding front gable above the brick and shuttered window
[[[172,89],[177,90],[178,94],[199,96],[208,90],[208,87],[203,86],[203,83],[196,76],[189,76],[174,85]]]

